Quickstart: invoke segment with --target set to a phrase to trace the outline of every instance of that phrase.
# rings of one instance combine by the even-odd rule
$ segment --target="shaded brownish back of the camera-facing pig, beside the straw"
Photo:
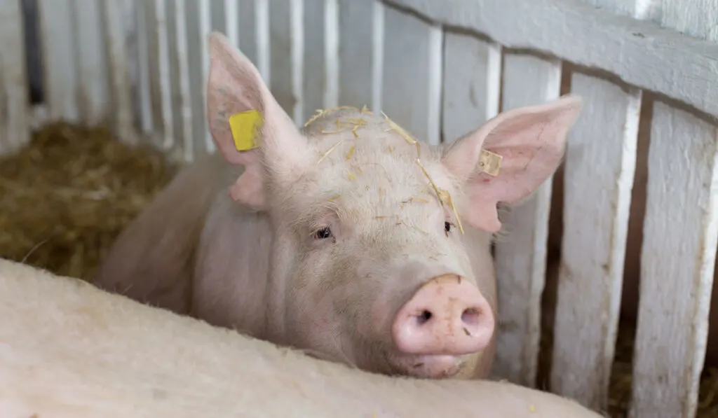
[[[177,313],[190,311],[195,251],[210,204],[223,189],[217,154],[185,167],[121,232],[95,284]]]

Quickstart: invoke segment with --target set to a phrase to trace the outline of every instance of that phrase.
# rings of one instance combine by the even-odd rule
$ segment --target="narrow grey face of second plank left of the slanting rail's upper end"
[[[325,56],[326,33],[325,0],[304,0],[304,57],[302,70],[302,115],[304,123],[314,115],[315,110],[324,108],[324,90],[327,77]]]

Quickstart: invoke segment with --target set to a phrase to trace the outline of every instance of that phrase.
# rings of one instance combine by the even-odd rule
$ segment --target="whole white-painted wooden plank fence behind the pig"
[[[551,390],[605,409],[643,91],[653,105],[635,418],[693,417],[718,236],[716,0],[37,0],[44,102],[28,101],[21,1],[0,0],[0,153],[64,118],[111,123],[187,161],[212,147],[206,35],[218,29],[302,123],[369,105],[430,143],[561,94],[569,138]],[[551,186],[496,246],[496,376],[535,384]]]

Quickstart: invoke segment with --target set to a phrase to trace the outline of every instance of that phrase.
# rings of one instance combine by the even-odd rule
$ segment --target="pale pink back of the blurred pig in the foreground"
[[[598,418],[494,381],[370,374],[0,260],[0,417]]]

